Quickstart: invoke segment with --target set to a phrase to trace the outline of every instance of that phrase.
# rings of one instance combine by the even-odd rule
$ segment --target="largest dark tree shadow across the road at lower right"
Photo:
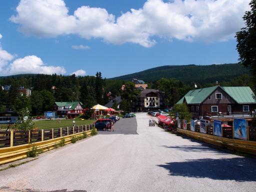
[[[256,160],[252,158],[203,158],[157,165],[169,175],[211,178],[216,180],[256,181]]]

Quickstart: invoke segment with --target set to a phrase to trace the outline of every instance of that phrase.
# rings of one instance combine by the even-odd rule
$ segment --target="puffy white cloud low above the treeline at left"
[[[66,71],[62,66],[48,66],[41,58],[35,55],[17,58],[9,64],[8,74],[41,73],[41,74],[64,74]]]

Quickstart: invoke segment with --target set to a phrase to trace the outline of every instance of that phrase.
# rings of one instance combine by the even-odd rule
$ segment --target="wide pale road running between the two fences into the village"
[[[0,191],[255,191],[256,159],[148,127],[148,119],[120,119],[118,134],[106,131],[1,171]]]

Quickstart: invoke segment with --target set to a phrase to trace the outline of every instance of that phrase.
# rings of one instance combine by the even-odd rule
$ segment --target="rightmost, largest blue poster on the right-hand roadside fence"
[[[247,127],[245,119],[234,118],[234,137],[247,140]]]

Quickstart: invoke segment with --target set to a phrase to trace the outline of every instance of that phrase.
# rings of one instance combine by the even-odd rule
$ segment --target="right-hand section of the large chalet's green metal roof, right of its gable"
[[[221,87],[237,103],[256,103],[254,93],[249,86],[223,86]]]

